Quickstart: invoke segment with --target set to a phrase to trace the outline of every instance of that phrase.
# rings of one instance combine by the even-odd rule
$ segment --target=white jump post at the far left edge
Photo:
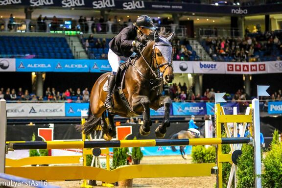
[[[0,100],[0,173],[5,173],[5,157],[6,157],[6,101]]]

